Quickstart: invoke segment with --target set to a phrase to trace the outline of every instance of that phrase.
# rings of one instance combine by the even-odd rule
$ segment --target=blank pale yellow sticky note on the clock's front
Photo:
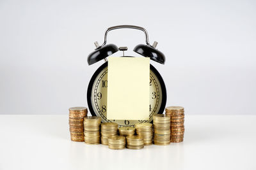
[[[109,120],[148,120],[148,57],[108,58]]]

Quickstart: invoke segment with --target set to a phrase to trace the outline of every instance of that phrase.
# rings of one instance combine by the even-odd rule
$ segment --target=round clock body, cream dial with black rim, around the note
[[[102,118],[102,122],[116,122],[119,127],[134,126],[137,123],[151,122],[153,115],[163,113],[166,104],[164,81],[157,70],[150,65],[148,120],[108,120],[108,63],[103,64],[93,75],[88,86],[88,106],[92,115]],[[131,106],[132,111],[132,106]]]

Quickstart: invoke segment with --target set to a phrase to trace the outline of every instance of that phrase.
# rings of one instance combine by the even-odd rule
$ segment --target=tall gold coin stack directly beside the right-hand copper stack
[[[154,124],[154,144],[169,145],[170,144],[170,116],[156,114],[153,116]]]

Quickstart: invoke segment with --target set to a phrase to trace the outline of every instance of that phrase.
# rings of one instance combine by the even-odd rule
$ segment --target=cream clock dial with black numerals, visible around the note
[[[119,126],[134,126],[137,123],[151,122],[153,115],[157,114],[160,107],[162,98],[162,89],[157,79],[156,74],[150,70],[149,81],[149,119],[148,120],[108,120],[107,119],[107,95],[108,95],[108,67],[105,67],[97,75],[92,87],[92,108],[98,117],[102,118],[102,122],[116,122]],[[131,107],[132,108],[132,107]]]

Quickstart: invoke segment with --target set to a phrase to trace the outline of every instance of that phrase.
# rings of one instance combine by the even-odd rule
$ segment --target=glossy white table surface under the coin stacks
[[[68,115],[0,115],[0,169],[256,169],[256,116],[185,117],[183,143],[110,150],[70,141]]]

